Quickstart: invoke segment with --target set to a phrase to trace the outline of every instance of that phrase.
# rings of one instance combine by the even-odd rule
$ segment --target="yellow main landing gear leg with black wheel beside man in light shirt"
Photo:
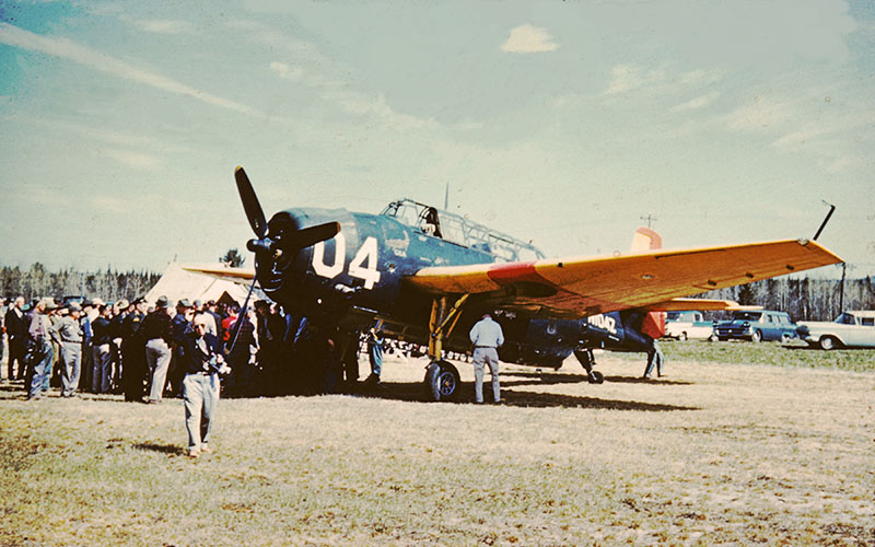
[[[453,333],[459,318],[462,305],[468,300],[463,294],[452,306],[446,296],[434,299],[429,319],[429,365],[425,366],[425,391],[432,400],[455,400],[459,394],[462,379],[458,370],[450,361],[442,359],[443,341]]]

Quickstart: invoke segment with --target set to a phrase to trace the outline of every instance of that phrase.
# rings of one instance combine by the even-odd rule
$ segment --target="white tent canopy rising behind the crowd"
[[[208,266],[210,269],[221,268],[221,265],[183,265],[178,263],[171,263],[167,269],[159,279],[158,283],[145,294],[145,300],[150,304],[154,304],[159,296],[167,296],[172,303],[176,303],[182,299],[188,299],[191,302],[200,300],[207,302],[209,300],[219,301],[223,294],[228,295],[237,304],[243,305],[246,300],[246,293],[249,290],[248,283],[241,284],[226,279],[220,279],[214,276],[206,274],[197,274],[195,271],[186,270],[187,267],[202,267]],[[264,299],[264,293],[256,288],[253,292],[254,299]],[[250,302],[252,304],[252,302]]]

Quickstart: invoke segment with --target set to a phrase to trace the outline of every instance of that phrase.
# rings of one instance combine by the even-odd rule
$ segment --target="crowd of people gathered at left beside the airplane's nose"
[[[343,382],[359,380],[359,351],[371,356],[365,385],[378,386],[383,348],[398,351],[376,330],[327,331],[268,301],[257,301],[241,316],[235,303],[174,303],[166,296],[153,303],[93,299],[65,305],[54,299],[25,305],[19,296],[0,300],[0,321],[9,344],[7,377],[24,381],[31,399],[50,386],[60,387],[62,397],[114,393],[148,404],[182,397],[196,325],[219,341],[229,369],[221,377],[225,397],[340,391]]]

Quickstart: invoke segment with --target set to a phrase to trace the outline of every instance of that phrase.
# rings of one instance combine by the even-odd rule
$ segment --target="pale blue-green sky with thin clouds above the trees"
[[[812,237],[831,203],[865,276],[873,150],[868,1],[0,2],[5,266],[247,253],[242,165],[268,217],[448,185],[548,256],[648,217],[666,248]]]

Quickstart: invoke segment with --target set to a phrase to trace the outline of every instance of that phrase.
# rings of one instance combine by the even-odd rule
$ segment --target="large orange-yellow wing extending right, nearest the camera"
[[[435,294],[476,293],[495,306],[586,317],[632,307],[690,310],[675,299],[841,261],[816,242],[789,240],[628,256],[439,266],[423,268],[406,281]]]

